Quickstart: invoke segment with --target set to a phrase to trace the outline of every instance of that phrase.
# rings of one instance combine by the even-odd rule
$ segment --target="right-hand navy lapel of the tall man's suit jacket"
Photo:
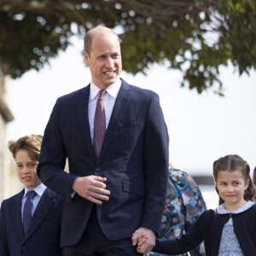
[[[129,84],[127,84],[124,80],[119,90],[119,94],[116,98],[116,102],[113,107],[113,112],[111,118],[108,123],[108,129],[106,131],[106,135],[104,137],[104,141],[102,143],[102,150],[98,159],[100,162],[108,151],[108,147],[113,140],[114,131],[119,124],[119,120],[122,118],[123,114],[125,113],[125,109],[128,106],[129,102],[129,91],[131,90]]]

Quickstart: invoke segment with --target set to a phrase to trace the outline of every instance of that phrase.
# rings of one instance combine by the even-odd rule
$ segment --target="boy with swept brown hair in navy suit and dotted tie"
[[[38,178],[42,136],[9,142],[17,174],[25,188],[4,200],[0,209],[0,256],[61,255],[62,199]]]

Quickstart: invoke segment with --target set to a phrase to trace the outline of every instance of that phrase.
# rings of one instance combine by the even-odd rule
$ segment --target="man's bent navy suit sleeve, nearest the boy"
[[[61,134],[59,105],[60,99],[55,103],[44,131],[38,164],[38,177],[49,189],[70,201],[73,182],[78,176],[64,172],[67,154]]]

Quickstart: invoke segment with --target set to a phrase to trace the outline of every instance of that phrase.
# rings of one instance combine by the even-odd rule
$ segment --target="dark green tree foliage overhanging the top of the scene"
[[[1,0],[0,66],[13,79],[39,70],[74,34],[102,25],[119,33],[126,72],[165,63],[183,73],[182,86],[222,96],[219,67],[255,70],[255,8],[255,0]]]

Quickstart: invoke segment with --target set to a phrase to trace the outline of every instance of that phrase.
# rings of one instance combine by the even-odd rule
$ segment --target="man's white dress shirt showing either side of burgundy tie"
[[[115,83],[108,86],[107,93],[103,96],[103,104],[105,108],[106,115],[106,130],[108,129],[109,119],[113,112],[113,106],[116,101],[116,97],[118,96],[119,89],[121,87],[122,81],[117,79]],[[96,103],[99,97],[99,91],[101,89],[97,87],[93,82],[90,82],[90,97],[88,103],[88,118],[90,124],[90,137],[93,143],[93,135],[94,135],[94,117],[96,111]]]

